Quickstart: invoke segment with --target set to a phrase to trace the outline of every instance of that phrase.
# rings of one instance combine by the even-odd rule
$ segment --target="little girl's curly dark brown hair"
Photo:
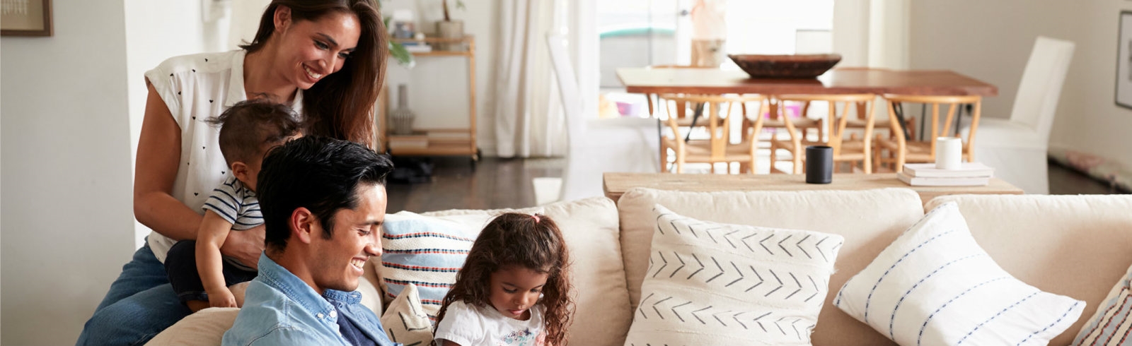
[[[547,274],[539,301],[546,308],[546,341],[547,345],[566,345],[566,327],[574,315],[569,251],[558,225],[546,215],[507,213],[488,223],[468,252],[452,291],[444,296],[437,323],[444,320],[448,305],[456,301],[489,306],[491,274],[507,266]]]

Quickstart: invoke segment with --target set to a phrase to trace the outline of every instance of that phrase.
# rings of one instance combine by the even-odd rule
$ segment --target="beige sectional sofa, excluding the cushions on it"
[[[559,202],[521,211],[542,213],[564,230],[574,259],[577,288],[571,345],[624,345],[642,282],[654,276],[650,248],[658,230],[654,207],[705,222],[807,230],[840,235],[824,303],[808,335],[817,346],[897,345],[834,304],[839,289],[893,241],[925,217],[954,202],[978,245],[1003,270],[1038,289],[1084,302],[1079,318],[1049,345],[1070,345],[1110,300],[1110,291],[1132,265],[1130,196],[944,196],[921,201],[908,189],[867,191],[687,192],[632,189],[615,205],[606,198]],[[445,210],[422,217],[480,223],[503,210]],[[361,288],[380,311],[388,303],[381,267],[375,260]],[[376,297],[385,297],[378,300]],[[158,335],[151,345],[218,344],[234,309],[209,309]],[[681,319],[684,317],[680,317]],[[723,321],[720,321],[721,323]],[[1066,322],[1067,323],[1067,322]],[[722,339],[721,339],[722,340]],[[710,343],[709,343],[710,344]]]

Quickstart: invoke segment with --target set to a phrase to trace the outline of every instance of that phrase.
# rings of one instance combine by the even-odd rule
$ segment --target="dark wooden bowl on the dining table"
[[[815,78],[841,61],[841,54],[728,54],[751,78]]]

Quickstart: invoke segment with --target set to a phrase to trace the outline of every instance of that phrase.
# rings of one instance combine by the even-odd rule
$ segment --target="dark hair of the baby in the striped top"
[[[239,102],[206,120],[220,127],[220,152],[228,165],[263,158],[273,145],[298,135],[302,126],[291,107],[266,100]]]

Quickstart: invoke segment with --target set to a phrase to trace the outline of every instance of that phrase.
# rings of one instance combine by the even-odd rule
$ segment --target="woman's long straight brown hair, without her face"
[[[345,139],[372,147],[374,107],[385,83],[389,53],[387,33],[374,0],[273,0],[259,19],[256,38],[240,47],[249,53],[264,47],[275,32],[275,9],[291,9],[291,20],[318,20],[331,12],[358,16],[361,35],[342,69],[303,92],[307,135]]]

